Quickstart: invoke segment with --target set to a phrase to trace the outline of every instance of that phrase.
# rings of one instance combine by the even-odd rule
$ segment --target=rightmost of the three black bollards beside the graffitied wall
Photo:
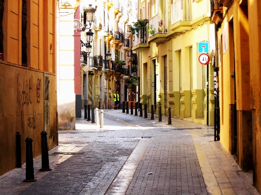
[[[51,171],[49,167],[47,132],[45,130],[41,132],[41,140],[42,140],[42,169],[40,169],[39,171]]]

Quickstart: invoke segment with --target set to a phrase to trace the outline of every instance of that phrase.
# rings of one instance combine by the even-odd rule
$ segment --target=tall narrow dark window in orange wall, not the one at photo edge
[[[22,2],[22,65],[27,66],[27,42],[26,42],[26,0]]]

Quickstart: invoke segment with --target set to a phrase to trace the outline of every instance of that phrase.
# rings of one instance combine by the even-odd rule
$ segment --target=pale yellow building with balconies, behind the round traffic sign
[[[164,115],[170,108],[171,117],[214,125],[214,67],[212,61],[208,68],[198,61],[198,43],[209,43],[208,53],[215,48],[209,5],[205,0],[139,1],[139,19],[148,24],[144,41],[134,35],[133,50],[139,55],[140,103],[148,112],[159,113],[161,106]]]

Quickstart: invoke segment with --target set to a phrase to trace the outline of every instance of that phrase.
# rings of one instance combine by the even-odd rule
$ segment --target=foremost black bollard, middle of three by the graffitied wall
[[[25,168],[25,179],[24,181],[36,181],[34,179],[33,173],[33,147],[32,147],[32,138],[27,137],[25,139],[26,142],[26,168]]]

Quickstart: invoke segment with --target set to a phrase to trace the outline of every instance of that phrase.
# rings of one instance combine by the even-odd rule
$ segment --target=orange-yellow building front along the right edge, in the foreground
[[[261,192],[261,5],[256,0],[213,1],[218,55],[220,141]]]

